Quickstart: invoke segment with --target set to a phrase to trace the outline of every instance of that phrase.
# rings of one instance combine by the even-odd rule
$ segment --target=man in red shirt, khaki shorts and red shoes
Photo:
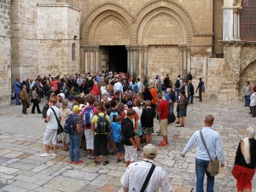
[[[160,94],[156,95],[156,101],[158,102],[157,114],[160,118],[160,133],[163,136],[163,141],[158,146],[166,146],[168,144],[167,139],[167,125],[168,125],[168,114],[169,114],[169,103],[163,100],[163,96]]]

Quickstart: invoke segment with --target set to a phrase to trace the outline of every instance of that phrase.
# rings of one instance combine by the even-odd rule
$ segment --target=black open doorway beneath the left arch
[[[127,50],[125,45],[108,46],[109,72],[127,73]]]

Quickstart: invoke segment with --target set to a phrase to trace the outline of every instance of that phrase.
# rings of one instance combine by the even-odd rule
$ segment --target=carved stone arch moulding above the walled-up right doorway
[[[183,20],[183,25],[185,26],[186,29],[186,42],[187,44],[192,43],[192,37],[193,34],[195,33],[195,26],[193,25],[193,22],[189,16],[189,12],[184,10],[178,3],[175,3],[173,1],[171,2],[166,2],[166,1],[159,1],[159,2],[154,2],[149,4],[147,7],[145,7],[140,14],[137,16],[137,19],[134,22],[134,25],[131,29],[131,42],[132,44],[137,44],[137,33],[139,30],[139,27],[144,20],[144,18],[152,11],[155,9],[160,9],[160,8],[166,8],[166,9],[171,9],[174,11],[181,20]]]

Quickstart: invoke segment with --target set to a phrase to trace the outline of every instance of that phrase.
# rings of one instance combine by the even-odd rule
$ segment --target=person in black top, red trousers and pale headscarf
[[[234,169],[239,170],[236,176],[237,192],[251,192],[252,179],[256,168],[256,140],[253,127],[247,127],[246,137],[241,140],[236,150]]]

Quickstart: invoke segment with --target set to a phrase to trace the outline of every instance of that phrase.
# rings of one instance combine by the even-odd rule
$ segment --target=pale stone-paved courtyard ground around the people
[[[125,165],[117,164],[115,156],[109,155],[108,166],[96,166],[81,151],[84,163],[73,165],[60,144],[55,159],[40,157],[44,152],[45,124],[40,114],[31,114],[30,110],[23,115],[20,106],[0,108],[0,191],[122,191],[119,179]],[[158,148],[156,164],[166,170],[175,192],[195,191],[195,148],[185,159],[180,153],[191,134],[201,128],[207,114],[214,116],[214,126],[224,147],[225,167],[216,177],[215,191],[236,191],[236,181],[230,173],[236,148],[247,126],[255,125],[248,110],[243,102],[195,102],[188,107],[185,127],[169,125],[170,142],[167,147]],[[159,124],[155,122],[155,131],[158,130]],[[160,137],[154,135],[154,144],[159,142]],[[255,177],[253,191],[256,191]]]

